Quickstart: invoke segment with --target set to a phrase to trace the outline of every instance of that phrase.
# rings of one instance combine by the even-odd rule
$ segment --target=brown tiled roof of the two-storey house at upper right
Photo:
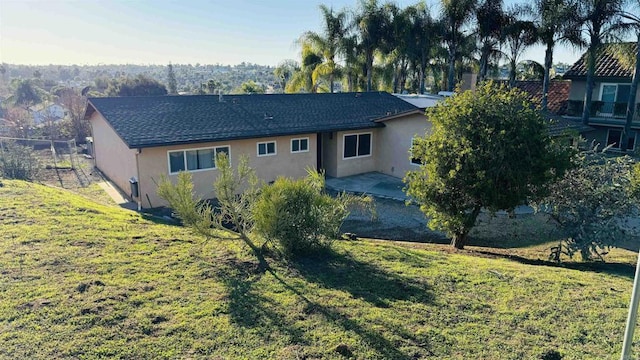
[[[619,60],[620,51],[635,54],[636,43],[609,43],[603,44],[596,57],[595,76],[600,78],[631,78],[633,69],[624,66]],[[576,79],[587,76],[587,53],[571,66],[564,74],[564,79]]]

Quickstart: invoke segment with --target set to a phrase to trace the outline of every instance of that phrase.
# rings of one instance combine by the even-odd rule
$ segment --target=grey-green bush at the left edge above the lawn
[[[7,179],[35,180],[42,165],[29,147],[14,142],[0,144],[0,175]]]

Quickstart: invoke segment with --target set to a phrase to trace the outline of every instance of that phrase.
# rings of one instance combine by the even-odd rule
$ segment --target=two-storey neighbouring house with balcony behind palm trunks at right
[[[595,131],[589,133],[587,140],[595,140],[602,146],[612,145],[612,149],[620,150],[627,101],[629,96],[634,95],[630,94],[633,68],[625,66],[619,54],[620,52],[635,54],[635,51],[635,43],[609,43],[604,44],[598,52],[588,124]],[[566,117],[569,119],[580,119],[582,116],[587,83],[586,63],[587,54],[584,54],[563,76],[564,79],[571,80],[566,111]],[[627,144],[627,149],[630,151],[636,149],[637,131],[640,129],[639,100],[640,97],[636,94],[634,101],[636,111]]]

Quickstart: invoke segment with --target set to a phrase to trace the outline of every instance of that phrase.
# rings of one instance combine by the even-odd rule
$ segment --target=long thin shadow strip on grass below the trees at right
[[[602,261],[590,261],[590,262],[561,262],[557,263],[549,260],[540,259],[528,259],[519,255],[501,254],[498,252],[474,250],[474,253],[487,255],[490,257],[503,258],[512,261],[519,262],[525,265],[538,265],[538,266],[551,266],[571,270],[579,271],[593,271],[598,273],[606,273],[616,276],[624,276],[633,278],[636,267],[633,264],[619,263],[619,262],[602,262]]]

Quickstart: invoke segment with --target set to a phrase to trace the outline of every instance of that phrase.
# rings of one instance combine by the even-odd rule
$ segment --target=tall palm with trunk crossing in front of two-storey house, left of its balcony
[[[578,3],[578,21],[586,33],[587,85],[582,111],[582,123],[589,124],[593,97],[596,57],[600,45],[615,35],[620,28],[622,7],[626,0],[581,0]]]

